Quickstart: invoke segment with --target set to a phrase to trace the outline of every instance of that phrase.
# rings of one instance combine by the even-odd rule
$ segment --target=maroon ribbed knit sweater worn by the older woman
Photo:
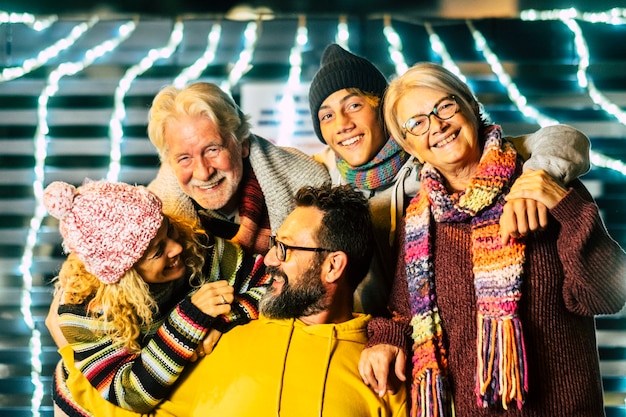
[[[582,184],[574,181],[573,187],[550,211],[549,227],[526,241],[519,315],[524,324],[529,392],[522,410],[477,405],[477,306],[470,225],[434,225],[437,305],[457,416],[604,415],[593,316],[615,313],[626,302],[626,254],[607,234]],[[411,311],[401,252],[390,298],[395,320],[370,322],[368,346],[389,343],[409,352]]]

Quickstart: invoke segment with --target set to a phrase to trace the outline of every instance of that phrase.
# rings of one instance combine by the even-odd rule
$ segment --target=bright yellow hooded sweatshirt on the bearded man
[[[261,316],[237,326],[221,337],[210,355],[188,366],[169,400],[149,415],[406,417],[405,389],[380,398],[359,375],[370,318],[355,313],[344,323],[309,326]],[[70,388],[73,394],[79,394],[77,385],[83,384]],[[99,396],[88,398],[84,385],[80,390],[75,399],[88,401],[95,416],[140,415]]]

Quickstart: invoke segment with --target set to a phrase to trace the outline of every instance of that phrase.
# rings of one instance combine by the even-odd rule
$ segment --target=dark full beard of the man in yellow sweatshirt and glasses
[[[270,275],[281,276],[285,279],[282,292],[274,295],[268,288],[261,298],[259,311],[265,317],[271,319],[295,319],[310,316],[325,310],[326,288],[321,282],[321,260],[316,260],[295,285],[289,285],[287,276],[276,267],[268,267],[266,272]]]

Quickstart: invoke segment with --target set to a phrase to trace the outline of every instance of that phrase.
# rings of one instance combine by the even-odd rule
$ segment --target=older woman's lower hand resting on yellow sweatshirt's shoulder
[[[397,392],[400,381],[406,381],[405,369],[406,355],[396,346],[376,345],[361,352],[359,361],[361,378],[380,397],[387,391]]]

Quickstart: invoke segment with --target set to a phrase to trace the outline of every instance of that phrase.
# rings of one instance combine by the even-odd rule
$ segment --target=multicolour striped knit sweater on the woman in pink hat
[[[227,279],[235,288],[228,315],[215,319],[191,303],[191,292],[180,280],[159,311],[151,328],[139,336],[142,350],[131,353],[96,330],[101,322],[87,314],[87,300],[62,305],[59,324],[74,350],[76,367],[102,397],[125,409],[148,412],[168,396],[192,353],[211,328],[222,332],[258,318],[258,301],[265,292],[261,256],[245,255],[238,245],[216,239],[205,264],[206,279]],[[182,300],[182,301],[180,301]],[[66,386],[68,372],[61,361],[54,376],[54,402],[70,417],[91,415],[72,400]]]

